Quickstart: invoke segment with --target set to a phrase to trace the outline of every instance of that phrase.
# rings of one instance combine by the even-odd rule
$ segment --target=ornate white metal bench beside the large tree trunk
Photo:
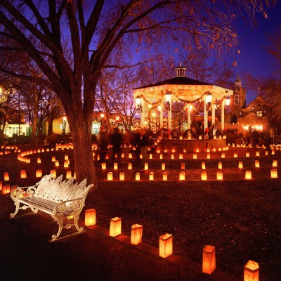
[[[15,202],[15,212],[10,216],[13,218],[19,209],[30,208],[34,213],[44,211],[58,222],[58,233],[52,236],[56,240],[63,228],[75,226],[81,232],[78,219],[84,207],[86,195],[93,184],[86,186],[86,179],[81,183],[74,183],[74,178],[62,181],[63,175],[51,178],[51,174],[41,178],[34,186],[16,188],[11,192],[11,198]],[[22,204],[22,207],[20,207]],[[73,219],[73,223],[71,223]]]

